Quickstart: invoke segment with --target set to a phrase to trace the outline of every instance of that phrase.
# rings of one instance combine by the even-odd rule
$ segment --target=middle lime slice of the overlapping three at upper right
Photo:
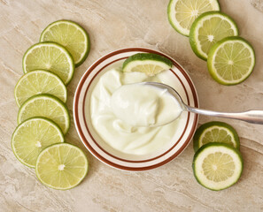
[[[220,11],[207,11],[190,28],[190,45],[197,57],[206,60],[215,42],[235,35],[238,29],[233,19]]]

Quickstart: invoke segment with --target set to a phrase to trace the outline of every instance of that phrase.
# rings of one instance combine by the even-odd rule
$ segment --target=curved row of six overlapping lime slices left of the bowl
[[[25,74],[14,91],[19,106],[12,150],[21,163],[35,168],[46,186],[69,189],[81,183],[88,160],[80,148],[64,143],[70,126],[66,85],[75,66],[89,54],[89,35],[78,24],[58,20],[43,30],[40,42],[23,57]]]

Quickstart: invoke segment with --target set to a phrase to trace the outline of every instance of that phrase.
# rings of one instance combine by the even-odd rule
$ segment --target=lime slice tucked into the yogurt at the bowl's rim
[[[123,72],[143,72],[154,76],[172,67],[172,62],[166,57],[151,53],[138,53],[128,57],[122,65]]]

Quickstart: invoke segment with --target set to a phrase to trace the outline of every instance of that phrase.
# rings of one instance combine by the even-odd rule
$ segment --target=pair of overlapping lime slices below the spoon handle
[[[193,171],[197,182],[219,191],[233,186],[243,171],[236,130],[223,122],[201,125],[194,136]]]

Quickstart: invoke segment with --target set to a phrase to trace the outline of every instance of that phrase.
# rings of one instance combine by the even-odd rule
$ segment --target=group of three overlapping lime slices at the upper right
[[[170,0],[167,13],[172,27],[190,37],[197,57],[207,60],[213,79],[222,85],[236,85],[250,76],[254,50],[238,36],[235,21],[220,12],[217,0]]]

